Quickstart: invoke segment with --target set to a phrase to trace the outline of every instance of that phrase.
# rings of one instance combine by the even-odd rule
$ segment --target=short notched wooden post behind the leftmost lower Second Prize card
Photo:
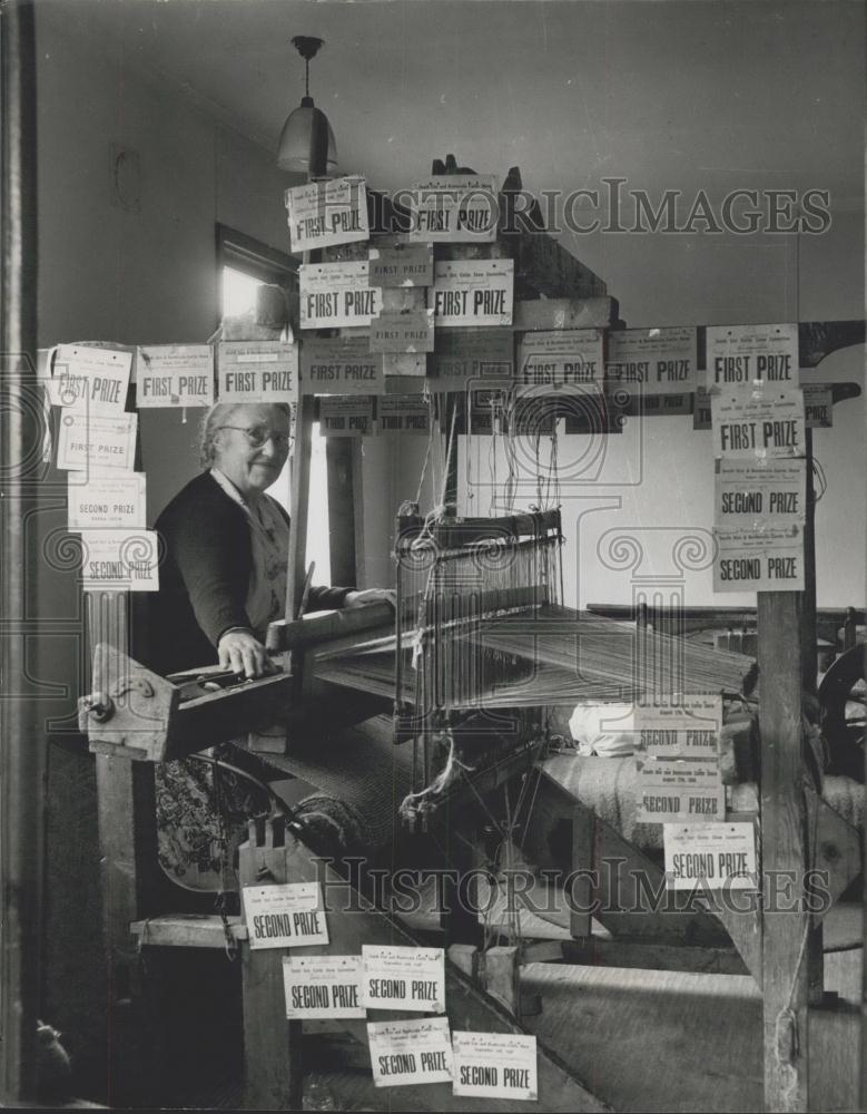
[[[250,823],[238,852],[242,886],[283,885],[289,878],[282,819],[267,820],[264,836]],[[283,948],[242,949],[244,996],[244,1079],[247,1110],[302,1108],[302,1027],[286,1018]]]

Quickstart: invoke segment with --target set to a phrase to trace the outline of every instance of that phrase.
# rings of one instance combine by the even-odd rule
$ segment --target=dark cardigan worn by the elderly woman
[[[245,604],[253,546],[244,508],[209,472],[175,496],[156,529],[162,560],[159,592],[151,597],[147,657],[151,668],[166,675],[213,664],[220,636],[230,627],[250,626]],[[307,609],[342,607],[351,590],[312,588]]]

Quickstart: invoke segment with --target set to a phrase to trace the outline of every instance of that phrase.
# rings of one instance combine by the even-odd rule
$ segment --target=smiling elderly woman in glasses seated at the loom
[[[205,469],[157,519],[165,554],[154,622],[156,668],[220,665],[260,676],[265,632],[286,606],[289,518],[266,494],[289,452],[287,407],[221,403],[201,426]],[[390,594],[313,588],[308,610]]]

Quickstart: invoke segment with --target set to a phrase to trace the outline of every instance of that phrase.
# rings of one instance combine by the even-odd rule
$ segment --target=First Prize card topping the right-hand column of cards
[[[708,325],[705,331],[708,387],[765,380],[798,385],[798,326]]]

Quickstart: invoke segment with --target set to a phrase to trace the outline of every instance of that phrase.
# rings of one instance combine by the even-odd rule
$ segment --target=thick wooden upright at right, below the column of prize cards
[[[808,1110],[807,1006],[809,918],[799,902],[769,900],[776,879],[802,890],[807,869],[801,756],[799,593],[758,594],[761,667],[761,872],[765,1108]],[[772,905],[778,908],[774,909]],[[789,908],[790,906],[795,908]]]

